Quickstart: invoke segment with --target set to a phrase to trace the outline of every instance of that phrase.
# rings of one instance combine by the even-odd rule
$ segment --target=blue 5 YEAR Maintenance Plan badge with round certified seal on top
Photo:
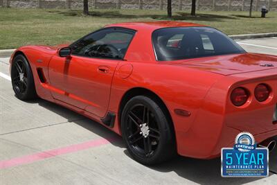
[[[257,148],[249,132],[235,138],[233,148],[222,148],[222,177],[267,177],[269,175],[269,152]]]

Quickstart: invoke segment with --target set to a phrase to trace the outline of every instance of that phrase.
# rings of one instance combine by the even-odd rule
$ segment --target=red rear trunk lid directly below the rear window
[[[179,60],[171,62],[170,64],[218,73],[225,76],[274,68],[277,73],[277,56],[258,53],[241,53]]]

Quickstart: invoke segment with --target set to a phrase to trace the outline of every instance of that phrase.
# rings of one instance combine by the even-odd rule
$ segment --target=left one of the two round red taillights
[[[249,98],[249,93],[247,89],[244,89],[242,87],[233,89],[231,93],[231,101],[235,106],[244,105],[244,103],[247,102],[248,98]]]

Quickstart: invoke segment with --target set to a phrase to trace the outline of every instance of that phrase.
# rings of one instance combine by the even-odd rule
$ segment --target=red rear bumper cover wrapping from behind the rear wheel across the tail
[[[211,159],[219,157],[222,148],[233,147],[240,132],[253,134],[256,143],[277,136],[276,71],[235,73],[215,82],[182,136],[179,154]]]

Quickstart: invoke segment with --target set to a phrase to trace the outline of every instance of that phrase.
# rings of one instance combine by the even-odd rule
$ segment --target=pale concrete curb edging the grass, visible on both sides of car
[[[262,37],[277,37],[277,33],[256,33],[256,34],[244,34],[244,35],[229,35],[232,39],[254,39]],[[10,57],[15,49],[0,50],[0,58]]]

